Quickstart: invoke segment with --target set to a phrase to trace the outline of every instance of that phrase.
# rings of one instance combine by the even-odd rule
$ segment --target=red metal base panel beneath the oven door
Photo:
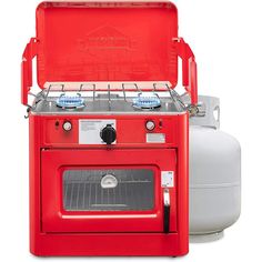
[[[36,255],[184,255],[178,233],[63,233],[38,234],[31,253]]]

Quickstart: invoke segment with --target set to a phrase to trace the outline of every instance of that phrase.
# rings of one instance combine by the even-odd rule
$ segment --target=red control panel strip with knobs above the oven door
[[[90,144],[79,144],[79,119],[112,119],[112,115],[46,115],[42,117],[43,120],[43,147],[48,148],[104,148],[101,145],[90,145]],[[167,148],[175,147],[178,143],[178,120],[170,115],[115,115],[113,119],[117,121],[117,144],[111,145],[111,148]],[[151,120],[155,123],[153,131],[148,131],[145,129],[145,123]],[[63,130],[62,124],[64,121],[70,121],[72,123],[72,130],[67,132]],[[147,143],[147,133],[164,133],[164,143]]]

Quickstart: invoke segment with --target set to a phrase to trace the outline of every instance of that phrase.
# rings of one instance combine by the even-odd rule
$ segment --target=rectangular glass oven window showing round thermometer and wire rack
[[[153,171],[67,170],[63,208],[67,211],[152,210]]]

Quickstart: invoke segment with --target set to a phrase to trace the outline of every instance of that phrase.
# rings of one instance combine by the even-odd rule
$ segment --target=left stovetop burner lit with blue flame
[[[81,109],[84,108],[84,99],[81,98],[81,94],[77,97],[61,94],[57,99],[57,107],[62,109]]]

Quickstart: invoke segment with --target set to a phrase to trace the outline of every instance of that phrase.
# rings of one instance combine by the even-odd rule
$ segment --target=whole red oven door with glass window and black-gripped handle
[[[175,231],[174,174],[172,149],[42,150],[42,231]]]

